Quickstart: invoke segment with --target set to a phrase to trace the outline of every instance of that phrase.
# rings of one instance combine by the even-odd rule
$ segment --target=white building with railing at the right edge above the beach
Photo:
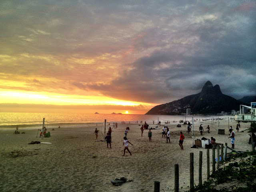
[[[256,121],[256,102],[252,102],[251,106],[240,105],[240,114],[235,115],[235,120],[245,122]]]

